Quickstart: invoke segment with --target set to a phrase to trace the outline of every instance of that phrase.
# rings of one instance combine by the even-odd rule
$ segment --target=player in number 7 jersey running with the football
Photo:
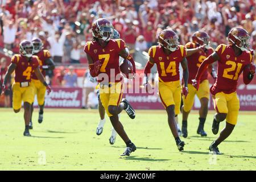
[[[120,75],[119,56],[127,59],[131,57],[122,39],[110,39],[114,27],[104,18],[97,19],[92,24],[93,40],[86,43],[84,51],[88,58],[90,75],[98,77],[100,82],[100,100],[108,114],[118,135],[126,143],[122,156],[129,156],[136,150],[119,121],[118,114],[125,110],[131,119],[135,118],[135,111],[129,102],[122,99],[123,78]],[[133,59],[130,59],[135,69]],[[131,74],[132,75],[132,74]]]

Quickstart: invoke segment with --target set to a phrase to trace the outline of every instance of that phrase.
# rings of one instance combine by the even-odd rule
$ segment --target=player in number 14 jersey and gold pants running
[[[158,36],[159,46],[152,46],[148,50],[150,57],[144,68],[143,85],[147,92],[150,92],[151,85],[148,83],[150,69],[156,64],[159,74],[159,97],[167,111],[168,124],[172,135],[175,138],[179,151],[184,150],[185,143],[180,140],[175,115],[180,112],[181,86],[179,78],[179,64],[183,68],[184,86],[182,94],[188,95],[188,67],[185,58],[187,51],[184,46],[180,46],[178,36],[172,30],[163,30]]]

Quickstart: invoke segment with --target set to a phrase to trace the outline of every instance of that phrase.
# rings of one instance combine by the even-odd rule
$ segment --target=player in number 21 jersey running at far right
[[[218,61],[217,80],[210,88],[216,114],[213,118],[212,132],[218,133],[221,121],[226,119],[226,126],[220,136],[210,144],[209,150],[221,154],[218,145],[232,133],[237,124],[240,103],[237,97],[237,80],[243,72],[243,82],[249,84],[254,77],[255,65],[253,53],[249,51],[250,36],[243,28],[232,28],[228,34],[229,46],[220,44],[212,55],[200,65],[192,85],[198,89],[201,77],[207,66]]]

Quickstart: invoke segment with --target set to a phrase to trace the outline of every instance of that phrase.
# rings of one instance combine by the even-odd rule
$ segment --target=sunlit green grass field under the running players
[[[256,113],[242,113],[232,135],[219,149],[223,155],[209,155],[213,113],[208,114],[205,131],[208,137],[196,134],[198,115],[188,121],[188,138],[179,152],[167,123],[165,111],[139,111],[134,120],[125,112],[121,121],[137,151],[121,157],[125,143],[117,137],[109,144],[111,124],[107,119],[103,133],[96,135],[96,110],[46,109],[44,121],[33,116],[32,137],[23,137],[23,110],[15,114],[0,109],[1,170],[255,170]],[[179,115],[181,121],[181,115]],[[221,123],[221,129],[225,123]],[[43,151],[43,152],[42,152]],[[42,155],[46,155],[46,161]],[[44,163],[46,162],[46,163]]]

